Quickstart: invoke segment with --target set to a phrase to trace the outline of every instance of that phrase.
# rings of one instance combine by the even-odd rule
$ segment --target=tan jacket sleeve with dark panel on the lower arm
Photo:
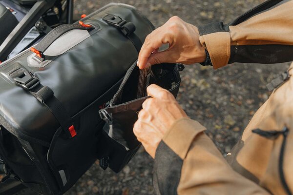
[[[157,195],[269,195],[229,166],[197,121],[177,120],[155,156]]]

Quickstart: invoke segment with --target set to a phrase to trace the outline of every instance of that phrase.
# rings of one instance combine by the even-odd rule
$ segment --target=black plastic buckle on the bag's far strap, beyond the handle
[[[128,36],[135,31],[135,25],[132,22],[127,22],[119,16],[108,14],[103,17],[103,20],[110,26],[114,26],[115,28],[121,30],[125,36]]]

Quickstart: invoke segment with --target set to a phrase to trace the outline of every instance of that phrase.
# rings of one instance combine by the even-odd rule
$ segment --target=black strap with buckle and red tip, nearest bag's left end
[[[17,85],[29,91],[52,112],[68,137],[77,135],[70,115],[63,104],[54,96],[51,88],[43,86],[38,78],[23,68],[14,69],[9,72],[9,75]]]

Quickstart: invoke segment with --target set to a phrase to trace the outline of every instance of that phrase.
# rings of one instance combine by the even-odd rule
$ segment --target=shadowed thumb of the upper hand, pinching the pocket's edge
[[[157,52],[152,55],[147,59],[146,65],[143,68],[147,68],[149,66],[152,66],[154,64],[161,64],[161,63],[171,63],[171,52],[169,51],[163,51],[163,52]]]

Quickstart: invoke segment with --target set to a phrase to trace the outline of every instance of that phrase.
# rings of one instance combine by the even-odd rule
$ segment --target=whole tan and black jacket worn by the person
[[[277,0],[271,0],[271,3]],[[293,58],[293,1],[285,1],[247,17],[229,32],[207,33],[200,40],[214,68],[234,59],[243,46],[267,49],[267,63]],[[270,7],[270,6],[268,6]],[[261,12],[261,13],[260,13]],[[224,25],[223,29],[227,28]],[[269,45],[269,47],[268,47]],[[282,46],[284,46],[282,48]],[[272,51],[273,46],[275,50]],[[232,48],[234,47],[234,48]],[[236,48],[236,49],[235,49]],[[291,55],[282,54],[285,48]],[[255,49],[255,48],[254,48]],[[231,52],[233,51],[233,52]],[[263,51],[261,51],[263,52]],[[248,56],[247,56],[248,57]],[[255,62],[251,57],[250,62]],[[291,65],[293,68],[293,64]],[[293,69],[289,71],[293,75]],[[162,195],[291,195],[293,193],[293,78],[276,88],[258,109],[241,140],[225,159],[197,121],[180,119],[168,130],[155,156],[154,188]]]

